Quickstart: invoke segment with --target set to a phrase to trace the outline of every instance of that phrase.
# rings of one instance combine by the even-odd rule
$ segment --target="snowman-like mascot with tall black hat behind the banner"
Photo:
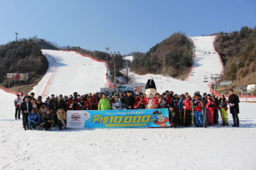
[[[148,79],[146,84],[146,98],[144,98],[144,104],[146,109],[157,109],[158,108],[158,98],[156,98],[157,87],[154,84],[153,79]]]

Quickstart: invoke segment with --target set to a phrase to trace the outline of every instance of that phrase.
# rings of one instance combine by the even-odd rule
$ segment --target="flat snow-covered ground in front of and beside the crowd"
[[[24,131],[15,97],[0,90],[0,169],[256,169],[256,104],[240,104],[239,128]]]

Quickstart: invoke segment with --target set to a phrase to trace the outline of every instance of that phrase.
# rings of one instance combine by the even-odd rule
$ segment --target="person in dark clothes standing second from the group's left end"
[[[27,128],[29,128],[28,117],[29,117],[29,113],[31,112],[32,108],[33,107],[32,107],[31,102],[29,101],[29,96],[26,96],[25,101],[23,101],[20,104],[20,111],[21,111],[22,120],[23,120],[23,128],[25,131],[27,130]]]

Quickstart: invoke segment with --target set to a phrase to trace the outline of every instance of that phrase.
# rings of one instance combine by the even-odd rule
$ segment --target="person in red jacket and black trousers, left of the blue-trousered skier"
[[[185,127],[190,126],[191,124],[191,112],[192,112],[192,108],[191,108],[191,98],[189,97],[189,93],[186,93],[186,98],[183,101],[183,105],[184,105],[184,125]]]

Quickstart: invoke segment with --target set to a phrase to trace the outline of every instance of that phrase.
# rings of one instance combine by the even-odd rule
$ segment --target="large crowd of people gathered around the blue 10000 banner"
[[[152,98],[151,98],[152,99]],[[170,126],[177,125],[188,127],[192,125],[192,116],[197,127],[203,127],[203,101],[206,100],[206,115],[208,125],[219,124],[219,113],[222,117],[221,125],[228,125],[227,109],[230,106],[230,113],[233,115],[233,126],[239,126],[239,98],[230,89],[229,98],[224,95],[196,91],[192,96],[189,93],[177,95],[173,91],[166,90],[165,93],[157,93],[154,97],[154,109],[167,108],[169,110]],[[55,126],[67,128],[68,110],[110,110],[110,109],[147,109],[148,98],[146,93],[135,94],[132,91],[124,93],[89,93],[80,96],[73,93],[69,96],[48,96],[42,101],[42,96],[17,95],[15,98],[15,119],[23,119],[24,130],[42,128],[44,131]],[[195,115],[192,114],[192,111]]]

